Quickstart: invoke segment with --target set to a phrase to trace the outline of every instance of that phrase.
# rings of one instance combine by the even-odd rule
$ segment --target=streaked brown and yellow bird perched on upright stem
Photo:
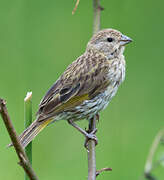
[[[96,141],[76,121],[90,120],[107,107],[125,79],[125,45],[132,39],[115,29],[93,35],[85,52],[73,61],[42,98],[36,120],[19,136],[25,148],[46,126],[66,120],[86,138]],[[12,144],[10,144],[12,145]]]

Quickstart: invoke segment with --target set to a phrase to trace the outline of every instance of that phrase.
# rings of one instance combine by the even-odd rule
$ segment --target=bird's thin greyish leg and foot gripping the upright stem
[[[84,144],[85,148],[87,148],[87,142],[88,142],[89,139],[93,139],[96,144],[98,143],[97,137],[95,135],[95,133],[97,132],[97,129],[94,129],[92,132],[87,132],[87,131],[83,130],[81,127],[79,127],[72,120],[68,120],[68,123],[70,125],[72,125],[74,128],[76,128],[79,132],[81,132],[86,137],[86,141],[85,141],[85,144]]]

